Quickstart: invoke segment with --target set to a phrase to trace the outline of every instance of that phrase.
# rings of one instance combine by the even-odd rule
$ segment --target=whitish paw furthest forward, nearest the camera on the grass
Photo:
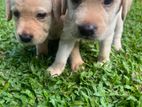
[[[56,77],[62,74],[64,68],[65,68],[65,64],[54,63],[47,69],[47,71],[49,71],[51,76]]]

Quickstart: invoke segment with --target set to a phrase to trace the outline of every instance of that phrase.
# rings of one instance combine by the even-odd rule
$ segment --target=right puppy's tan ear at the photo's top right
[[[132,0],[122,0],[122,19],[124,20],[130,10]]]

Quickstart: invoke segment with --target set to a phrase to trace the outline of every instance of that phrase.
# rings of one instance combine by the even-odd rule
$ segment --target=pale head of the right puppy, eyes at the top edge
[[[79,37],[102,40],[114,31],[122,0],[68,0],[67,6]]]

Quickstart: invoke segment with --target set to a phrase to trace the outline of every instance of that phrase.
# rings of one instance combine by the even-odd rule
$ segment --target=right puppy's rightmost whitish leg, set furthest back
[[[120,51],[122,49],[121,45],[121,37],[122,37],[122,32],[123,32],[123,20],[121,15],[119,15],[117,23],[116,23],[116,28],[115,28],[115,34],[113,38],[113,45],[116,51]]]

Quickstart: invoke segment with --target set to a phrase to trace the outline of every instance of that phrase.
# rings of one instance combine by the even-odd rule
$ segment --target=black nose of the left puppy
[[[19,37],[20,37],[22,42],[28,43],[28,42],[32,41],[33,35],[23,33],[23,34],[20,34]]]

